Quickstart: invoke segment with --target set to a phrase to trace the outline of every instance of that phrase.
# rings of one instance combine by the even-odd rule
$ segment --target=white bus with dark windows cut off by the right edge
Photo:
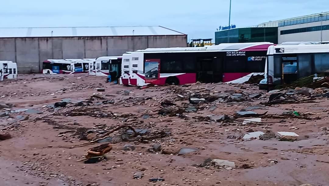
[[[267,50],[267,87],[329,73],[329,45],[276,45]]]

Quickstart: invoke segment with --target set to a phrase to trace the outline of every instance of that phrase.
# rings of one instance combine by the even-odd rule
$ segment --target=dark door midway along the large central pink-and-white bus
[[[214,58],[198,57],[196,60],[196,80],[203,83],[214,82]]]

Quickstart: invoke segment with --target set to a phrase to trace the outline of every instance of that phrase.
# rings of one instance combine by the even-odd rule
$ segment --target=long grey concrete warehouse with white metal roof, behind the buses
[[[150,47],[187,47],[187,35],[162,26],[0,28],[0,60],[38,73],[47,59],[117,56]]]

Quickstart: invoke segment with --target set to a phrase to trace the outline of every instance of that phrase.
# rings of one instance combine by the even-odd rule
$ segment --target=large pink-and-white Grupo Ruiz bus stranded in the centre
[[[131,52],[129,85],[239,82],[264,75],[273,43],[228,43],[207,47],[147,48]]]

